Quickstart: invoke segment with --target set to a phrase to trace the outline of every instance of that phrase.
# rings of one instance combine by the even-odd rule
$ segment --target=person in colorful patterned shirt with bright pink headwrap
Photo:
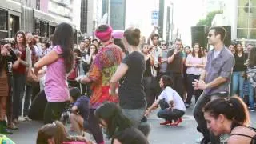
[[[85,129],[90,130],[97,143],[104,143],[104,141],[98,120],[94,117],[94,110],[101,106],[103,102],[118,102],[118,97],[111,96],[109,89],[110,78],[122,62],[122,50],[112,42],[111,33],[112,28],[110,26],[98,26],[95,35],[103,44],[102,50],[96,55],[88,74],[78,79],[78,82],[82,83],[91,82],[93,93],[90,97],[89,126]]]

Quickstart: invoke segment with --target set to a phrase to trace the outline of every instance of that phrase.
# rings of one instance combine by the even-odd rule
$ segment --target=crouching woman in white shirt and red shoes
[[[160,105],[161,110],[158,111],[158,118],[164,118],[166,122],[160,125],[178,126],[182,122],[182,116],[185,114],[186,107],[181,96],[171,88],[172,80],[169,76],[163,75],[159,81],[162,93],[158,99],[146,110],[145,116],[150,114],[156,106]],[[172,122],[174,120],[174,123]]]

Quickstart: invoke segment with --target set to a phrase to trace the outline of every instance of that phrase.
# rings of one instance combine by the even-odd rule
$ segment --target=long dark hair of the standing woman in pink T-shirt
[[[64,63],[66,67],[66,73],[70,72],[73,67],[73,44],[74,44],[74,33],[72,26],[65,22],[62,22],[57,26],[54,31],[53,45],[61,46],[62,48],[62,58],[64,58]]]

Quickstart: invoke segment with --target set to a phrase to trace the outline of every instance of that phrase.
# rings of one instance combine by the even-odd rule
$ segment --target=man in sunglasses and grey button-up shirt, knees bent
[[[234,66],[234,56],[224,46],[226,30],[222,26],[211,27],[208,34],[208,43],[214,46],[207,56],[206,68],[199,80],[195,80],[194,90],[204,90],[194,106],[194,118],[198,122],[198,130],[203,134],[202,144],[208,142],[219,143],[219,137],[214,137],[207,130],[206,119],[203,117],[202,107],[212,98],[228,97],[230,77]]]

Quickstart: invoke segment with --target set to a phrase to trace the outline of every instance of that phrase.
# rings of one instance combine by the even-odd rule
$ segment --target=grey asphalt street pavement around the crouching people
[[[148,122],[151,126],[149,135],[150,144],[194,144],[197,138],[201,138],[202,134],[196,130],[196,122],[192,115],[192,108],[186,110],[183,121],[178,126],[160,126],[162,119],[157,118],[157,110],[154,110]],[[256,112],[250,113],[252,125],[256,126]],[[42,126],[41,122],[20,122],[19,130],[14,130],[13,135],[9,137],[17,144],[34,144],[36,142],[37,133]],[[88,138],[92,138],[91,136]],[[109,142],[106,142],[109,143]]]

